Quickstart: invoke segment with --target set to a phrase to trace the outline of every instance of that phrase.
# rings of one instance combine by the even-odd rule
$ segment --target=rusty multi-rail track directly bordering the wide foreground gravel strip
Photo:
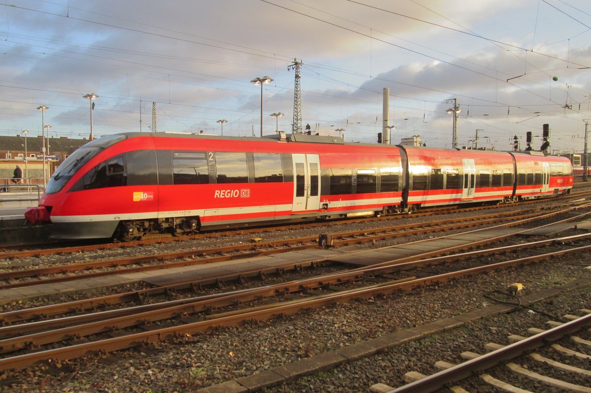
[[[575,247],[573,242],[583,241],[584,245]],[[511,253],[518,249],[539,250],[542,246],[564,245],[559,251],[536,253],[529,257],[502,261],[492,264],[447,271],[446,273],[424,277],[405,277],[391,280],[396,271],[409,270],[420,266],[436,266],[457,260],[475,260],[498,253]],[[579,253],[591,249],[591,235],[577,235],[535,242],[527,245],[493,248],[491,250],[471,251],[470,253],[453,256],[430,258],[420,261],[394,260],[380,266],[358,268],[311,277],[306,280],[289,281],[288,283],[264,286],[256,289],[239,290],[226,294],[215,294],[181,302],[150,304],[147,306],[124,309],[115,312],[101,312],[95,315],[82,315],[64,319],[34,322],[28,325],[5,326],[0,328],[0,352],[12,353],[32,349],[33,352],[20,353],[0,359],[0,369],[24,368],[40,361],[63,361],[93,353],[105,353],[120,349],[147,345],[161,340],[182,340],[195,333],[204,332],[220,326],[234,326],[248,320],[262,320],[297,313],[302,309],[323,307],[335,302],[348,302],[352,299],[366,299],[390,294],[399,290],[413,289],[418,286],[444,283],[466,275],[480,274],[519,264],[534,263],[570,253]],[[379,283],[363,282],[368,277],[385,277]],[[362,285],[355,285],[356,283]],[[338,289],[337,286],[345,286]],[[327,292],[315,292],[319,288],[328,288]],[[285,297],[293,294],[307,296],[291,296],[288,300],[274,300],[270,304],[261,304],[261,299]],[[245,308],[249,302],[255,304]],[[239,306],[238,309],[225,309]],[[203,313],[208,312],[206,316]],[[202,314],[196,317],[196,314]],[[199,319],[199,320],[197,320]],[[171,326],[161,326],[163,320],[173,320]],[[179,323],[181,323],[179,325]],[[144,326],[138,329],[138,326]],[[131,327],[131,332],[124,329]],[[138,332],[139,330],[139,332]],[[24,333],[22,333],[24,332]],[[18,335],[17,335],[18,333]],[[27,334],[28,333],[28,334]],[[100,338],[110,334],[108,338]],[[90,336],[99,335],[98,339],[89,341]],[[64,343],[69,345],[60,348],[43,350],[42,345]]]

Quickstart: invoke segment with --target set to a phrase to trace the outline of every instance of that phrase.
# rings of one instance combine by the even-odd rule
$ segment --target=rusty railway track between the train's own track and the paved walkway
[[[335,233],[332,234],[332,243],[335,247],[340,247],[343,245],[375,242],[413,234],[458,230],[478,225],[498,225],[500,222],[507,222],[507,224],[504,225],[508,226],[522,225],[527,222],[564,214],[567,211],[573,211],[584,206],[586,205],[576,205],[567,209],[555,208],[545,214],[540,214],[537,212],[537,209],[524,209],[519,212],[502,212],[500,214],[489,214],[469,219],[463,217],[456,220],[432,221],[420,224],[396,225],[394,227],[383,227],[372,230],[366,229]],[[3,284],[0,284],[0,289],[11,289],[40,283],[66,282],[80,278],[108,276],[110,274],[121,273],[121,271],[125,271],[125,273],[150,271],[161,268],[213,263],[236,258],[264,256],[281,253],[287,250],[304,250],[316,248],[318,240],[319,238],[316,235],[289,240],[284,239],[264,243],[229,245],[203,250],[191,249],[167,254],[135,256],[103,261],[90,261],[86,263],[70,263],[35,268],[17,267],[0,272],[0,281],[4,282]],[[122,269],[122,267],[125,268]],[[87,273],[88,271],[92,272]],[[39,278],[50,275],[53,277]]]

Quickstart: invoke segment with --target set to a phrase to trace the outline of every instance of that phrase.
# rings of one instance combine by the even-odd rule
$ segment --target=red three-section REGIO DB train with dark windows
[[[345,143],[279,133],[219,137],[122,133],[82,146],[53,174],[27,220],[52,238],[132,240],[418,207],[568,194],[568,159]]]

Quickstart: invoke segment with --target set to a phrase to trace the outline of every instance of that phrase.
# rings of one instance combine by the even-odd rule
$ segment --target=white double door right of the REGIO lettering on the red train
[[[318,211],[320,160],[317,154],[294,154],[294,202],[292,211]]]

